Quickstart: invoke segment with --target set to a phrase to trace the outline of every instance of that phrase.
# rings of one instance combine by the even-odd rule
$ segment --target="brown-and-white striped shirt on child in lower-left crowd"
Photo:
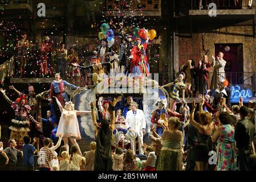
[[[48,147],[40,149],[38,164],[40,168],[51,168],[51,160],[54,158],[54,154]]]

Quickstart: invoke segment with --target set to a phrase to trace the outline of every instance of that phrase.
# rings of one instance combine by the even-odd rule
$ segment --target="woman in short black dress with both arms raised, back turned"
[[[194,121],[194,110],[196,109],[196,101],[193,101],[192,112],[190,115],[190,122],[194,126],[197,133],[197,140],[195,147],[195,156],[194,161],[196,162],[195,171],[206,171],[208,169],[208,159],[209,159],[209,147],[208,140],[212,134],[213,125],[215,122],[212,122],[212,116],[209,112],[202,111],[202,105],[204,105],[204,100],[200,101],[200,121]]]

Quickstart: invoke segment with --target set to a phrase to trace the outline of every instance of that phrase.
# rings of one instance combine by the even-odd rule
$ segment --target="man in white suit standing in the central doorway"
[[[125,125],[128,131],[135,131],[139,141],[139,154],[144,154],[143,135],[146,134],[146,119],[143,110],[137,109],[138,105],[136,102],[131,102],[131,110],[127,112]],[[131,139],[131,149],[136,154],[136,140]]]

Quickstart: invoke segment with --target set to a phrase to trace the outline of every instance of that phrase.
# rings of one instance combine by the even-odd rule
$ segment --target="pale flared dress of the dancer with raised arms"
[[[67,111],[63,109],[62,116],[59,119],[59,125],[56,136],[63,134],[63,137],[75,137],[81,139],[78,117],[76,110]]]

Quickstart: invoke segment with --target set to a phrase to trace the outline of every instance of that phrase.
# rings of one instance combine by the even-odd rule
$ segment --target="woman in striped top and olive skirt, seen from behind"
[[[168,120],[169,130],[162,134],[162,149],[160,151],[157,171],[181,171],[183,133],[180,131],[181,122],[177,117]]]

